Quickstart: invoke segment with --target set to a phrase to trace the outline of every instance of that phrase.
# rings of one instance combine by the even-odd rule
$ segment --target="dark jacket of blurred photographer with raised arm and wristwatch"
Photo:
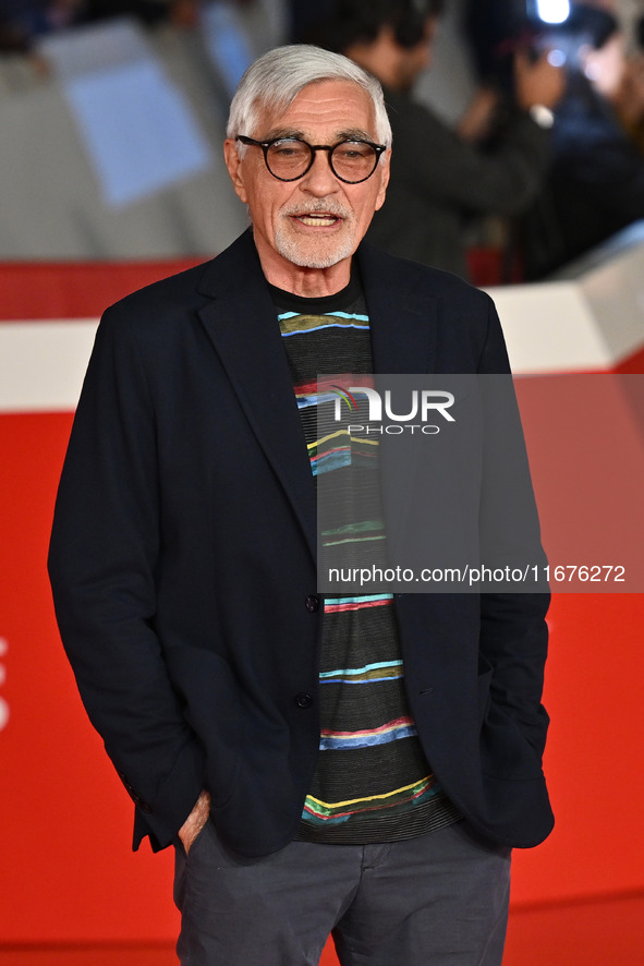
[[[409,94],[386,89],[385,96],[396,150],[387,204],[367,239],[392,255],[467,278],[469,221],[527,207],[548,166],[548,132],[517,113],[486,152]]]

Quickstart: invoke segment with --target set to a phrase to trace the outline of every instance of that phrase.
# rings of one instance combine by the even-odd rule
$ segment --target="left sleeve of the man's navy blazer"
[[[155,632],[160,547],[155,407],[127,314],[105,314],[60,482],[49,573],[81,697],[108,754],[165,847],[203,787]]]

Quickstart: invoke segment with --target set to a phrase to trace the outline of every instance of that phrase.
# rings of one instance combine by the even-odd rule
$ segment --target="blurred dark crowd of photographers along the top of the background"
[[[0,48],[129,14],[197,26],[206,0],[0,0]],[[252,7],[254,0],[236,0]],[[519,0],[461,0],[477,89],[449,123],[415,96],[450,0],[289,5],[290,36],[345,53],[382,83],[394,152],[369,238],[394,254],[493,281],[540,279],[644,218],[643,31],[609,2],[573,2],[546,24]],[[531,14],[532,11],[532,14]]]

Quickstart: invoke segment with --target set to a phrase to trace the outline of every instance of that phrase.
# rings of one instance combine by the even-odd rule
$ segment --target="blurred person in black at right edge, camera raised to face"
[[[548,177],[526,219],[526,270],[543,278],[644,218],[644,157],[624,128],[642,116],[643,85],[606,10],[572,4],[548,43],[566,62]]]

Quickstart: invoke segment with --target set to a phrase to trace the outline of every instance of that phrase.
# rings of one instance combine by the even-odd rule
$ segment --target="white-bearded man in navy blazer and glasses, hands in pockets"
[[[343,964],[493,966],[511,847],[551,828],[547,597],[320,595],[312,414],[318,373],[508,372],[498,319],[361,244],[390,129],[351,61],[265,55],[224,149],[252,228],[101,321],[61,635],[135,847],[175,847],[182,963],[315,964],[332,932]]]

